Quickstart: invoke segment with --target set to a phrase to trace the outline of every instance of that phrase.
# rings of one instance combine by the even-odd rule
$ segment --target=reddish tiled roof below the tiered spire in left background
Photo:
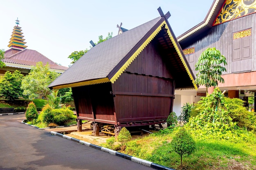
[[[67,67],[60,66],[45,57],[43,54],[39,53],[36,50],[24,49],[9,49],[4,53],[4,59],[2,62],[21,64],[27,66],[36,66],[37,62],[43,62],[43,64],[49,63],[50,68],[57,70],[67,70]]]

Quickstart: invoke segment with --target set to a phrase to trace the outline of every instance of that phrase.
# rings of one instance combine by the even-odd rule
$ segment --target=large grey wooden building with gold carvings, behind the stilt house
[[[227,59],[227,72],[222,75],[225,83],[218,84],[220,89],[226,90],[231,98],[254,97],[256,0],[214,0],[204,21],[177,37],[177,40],[194,75],[197,73],[194,66],[200,54],[209,47],[216,47]],[[180,97],[180,101],[175,101],[175,107],[180,108],[186,102],[197,102],[205,91],[204,86],[194,93],[191,91],[191,94],[176,91],[175,100]]]

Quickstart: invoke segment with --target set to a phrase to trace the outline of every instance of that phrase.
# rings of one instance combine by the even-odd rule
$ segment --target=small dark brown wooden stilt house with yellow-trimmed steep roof
[[[160,17],[92,47],[49,85],[72,87],[78,124],[111,124],[115,132],[161,124],[172,112],[175,88],[197,88],[170,13],[158,11]]]

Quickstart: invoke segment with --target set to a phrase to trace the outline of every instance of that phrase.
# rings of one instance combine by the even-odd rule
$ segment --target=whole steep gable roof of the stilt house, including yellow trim
[[[177,88],[197,88],[193,85],[195,77],[191,68],[185,60],[165,17],[155,18],[92,47],[83,57],[57,77],[49,87],[65,88],[104,82],[114,83],[148,43],[163,30],[166,31],[166,41],[172,42],[169,44],[176,51],[175,56],[179,60],[176,65],[186,73],[183,77],[187,80],[186,85],[180,85]]]

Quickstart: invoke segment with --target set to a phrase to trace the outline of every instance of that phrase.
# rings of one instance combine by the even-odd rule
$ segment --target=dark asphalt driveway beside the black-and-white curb
[[[152,170],[22,124],[24,114],[0,116],[0,170]]]

